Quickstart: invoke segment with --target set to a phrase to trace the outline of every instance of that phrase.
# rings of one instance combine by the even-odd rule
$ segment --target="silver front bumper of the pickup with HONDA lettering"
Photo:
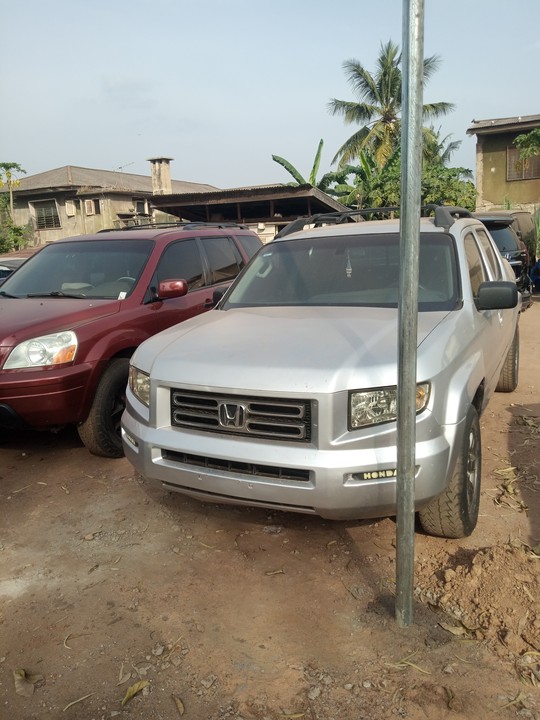
[[[288,510],[333,520],[396,514],[396,447],[319,450],[313,445],[232,439],[217,434],[151,428],[126,411],[122,438],[141,475],[199,500]],[[417,434],[416,507],[446,488],[459,425],[424,417]],[[436,430],[436,432],[435,432]],[[381,437],[394,436],[388,429]],[[296,479],[298,474],[301,479]]]

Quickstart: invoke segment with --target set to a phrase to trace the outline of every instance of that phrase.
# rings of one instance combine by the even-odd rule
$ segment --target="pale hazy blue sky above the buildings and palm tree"
[[[403,44],[402,0],[0,0],[0,162],[27,175],[64,165],[219,188],[318,177],[358,126],[332,98],[358,100],[343,63],[376,69]],[[428,102],[474,170],[473,120],[540,113],[540,0],[425,0],[424,54],[439,69]]]

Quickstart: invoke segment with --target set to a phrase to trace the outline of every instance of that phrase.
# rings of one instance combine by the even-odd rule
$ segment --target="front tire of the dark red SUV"
[[[103,373],[90,413],[78,426],[79,437],[93,455],[123,457],[120,419],[126,406],[129,359],[111,360]]]

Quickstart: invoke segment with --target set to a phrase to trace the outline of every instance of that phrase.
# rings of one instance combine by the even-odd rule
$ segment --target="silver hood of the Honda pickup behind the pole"
[[[419,345],[446,315],[419,315]],[[336,392],[395,384],[397,337],[393,308],[213,310],[150,338],[133,363],[183,387]]]

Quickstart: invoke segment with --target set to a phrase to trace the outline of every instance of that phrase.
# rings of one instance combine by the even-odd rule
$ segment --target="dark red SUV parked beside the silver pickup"
[[[0,285],[0,428],[74,423],[90,452],[121,457],[133,351],[212,308],[260,247],[245,226],[211,223],[46,245]]]

